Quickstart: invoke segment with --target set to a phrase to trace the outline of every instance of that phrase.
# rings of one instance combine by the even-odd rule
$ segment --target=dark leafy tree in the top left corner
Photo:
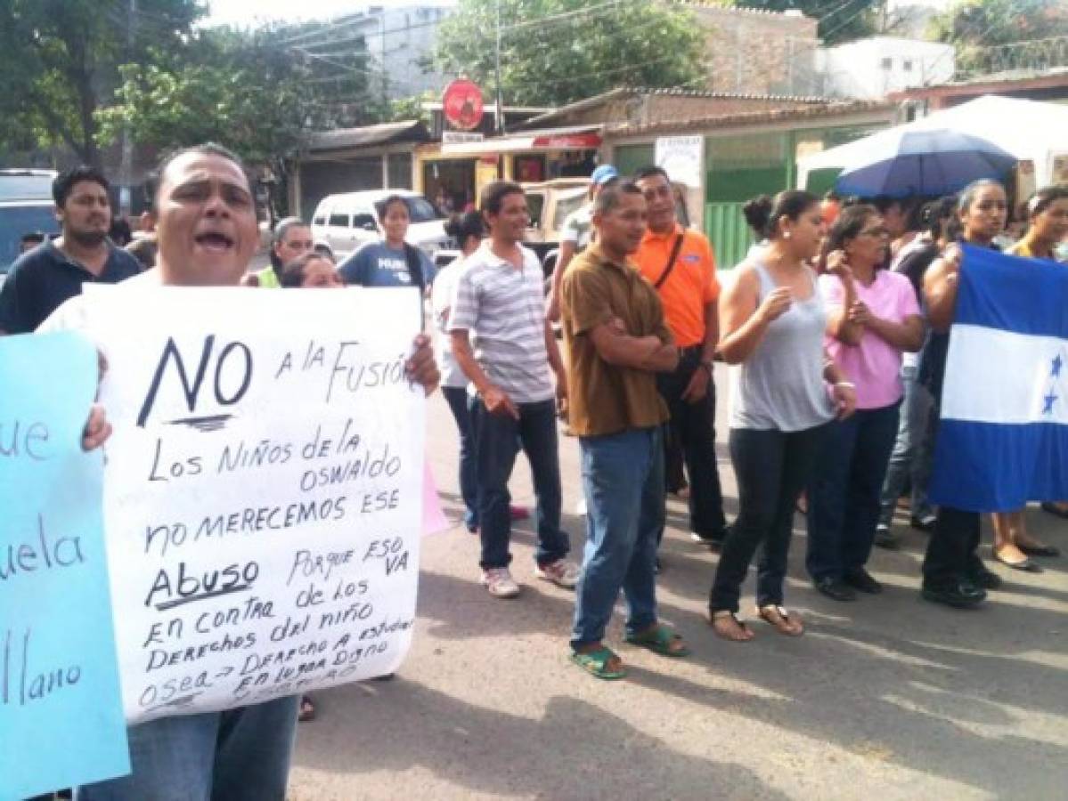
[[[0,147],[64,145],[99,165],[96,111],[124,63],[180,48],[197,0],[0,0]]]

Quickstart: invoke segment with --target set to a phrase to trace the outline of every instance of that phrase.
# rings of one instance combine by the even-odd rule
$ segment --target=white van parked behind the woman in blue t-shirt
[[[324,197],[312,215],[315,250],[329,253],[341,261],[364,242],[380,241],[383,234],[378,225],[378,210],[391,195],[399,195],[408,204],[411,218],[406,237],[408,243],[422,249],[433,262],[438,251],[451,245],[444,220],[426,197],[404,189],[376,189]]]

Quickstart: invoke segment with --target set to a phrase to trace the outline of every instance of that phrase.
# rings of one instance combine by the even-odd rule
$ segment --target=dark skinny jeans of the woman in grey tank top
[[[731,429],[731,461],[738,479],[738,517],[728,529],[709,609],[738,611],[741,582],[757,546],[756,605],[783,603],[794,506],[808,483],[827,424],[802,431]]]

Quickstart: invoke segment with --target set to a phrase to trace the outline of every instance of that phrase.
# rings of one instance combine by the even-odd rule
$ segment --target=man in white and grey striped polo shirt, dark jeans
[[[545,316],[541,266],[520,244],[530,220],[523,190],[509,181],[490,183],[482,193],[482,213],[489,239],[468,257],[457,278],[449,331],[456,361],[476,393],[471,411],[482,583],[491,595],[511,598],[519,586],[508,571],[508,478],[520,446],[537,499],[534,573],[566,588],[578,581],[578,567],[565,559],[567,534],[560,528],[556,403],[566,402],[567,381]]]

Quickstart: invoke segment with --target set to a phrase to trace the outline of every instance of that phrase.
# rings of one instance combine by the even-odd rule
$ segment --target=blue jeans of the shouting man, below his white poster
[[[76,801],[284,801],[299,695],[129,728],[130,767]]]

